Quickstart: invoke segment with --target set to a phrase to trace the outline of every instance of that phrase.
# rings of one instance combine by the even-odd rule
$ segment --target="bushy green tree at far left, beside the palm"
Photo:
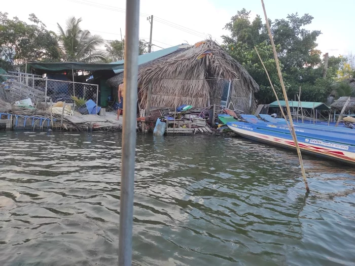
[[[17,17],[10,19],[8,13],[0,12],[0,47],[4,49],[0,64],[7,70],[25,61],[57,61],[60,58],[55,33],[47,30],[34,14],[29,15],[29,21],[32,24]]]

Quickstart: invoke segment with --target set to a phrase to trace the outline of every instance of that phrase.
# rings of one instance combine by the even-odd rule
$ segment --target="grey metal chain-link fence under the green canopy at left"
[[[44,102],[53,103],[65,102],[74,104],[73,96],[84,98],[86,101],[92,99],[98,103],[98,85],[65,80],[54,80],[42,76],[13,72],[12,75],[0,75],[0,81],[14,79],[15,81],[38,89],[45,93]]]

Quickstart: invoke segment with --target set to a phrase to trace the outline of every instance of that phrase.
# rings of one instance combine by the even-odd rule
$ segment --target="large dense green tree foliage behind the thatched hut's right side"
[[[316,39],[321,31],[305,29],[312,20],[309,14],[299,16],[296,13],[288,15],[286,19],[269,20],[269,23],[289,97],[294,98],[301,87],[302,101],[325,102],[332,91],[330,85],[338,75],[342,59],[333,56],[329,58],[327,78],[324,79],[324,61],[321,51],[316,49]],[[273,102],[275,96],[254,47],[264,61],[278,96],[283,98],[271,43],[262,18],[257,15],[251,20],[250,12],[242,9],[225,28],[230,31],[229,36],[223,36],[225,49],[243,64],[260,85],[260,91],[256,94],[258,102]]]

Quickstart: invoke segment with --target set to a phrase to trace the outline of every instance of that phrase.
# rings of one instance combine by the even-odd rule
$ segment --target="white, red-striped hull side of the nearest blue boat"
[[[244,124],[244,123],[227,123],[228,127],[236,132],[239,136],[253,141],[270,144],[277,147],[287,148],[287,149],[296,149],[295,143],[292,140],[292,136],[280,137],[273,136],[269,134],[264,134],[263,132],[258,132],[255,130],[253,125]],[[285,135],[285,134],[284,134]],[[287,136],[287,135],[286,135]],[[302,152],[307,154],[312,154],[320,156],[323,158],[336,160],[346,164],[355,165],[355,153],[345,150],[346,145],[342,145],[344,150],[335,149],[332,147],[324,147],[317,145],[318,140],[313,140],[312,138],[299,138],[297,137],[299,147]],[[323,144],[328,144],[326,142],[321,142]],[[331,144],[331,143],[330,143]]]

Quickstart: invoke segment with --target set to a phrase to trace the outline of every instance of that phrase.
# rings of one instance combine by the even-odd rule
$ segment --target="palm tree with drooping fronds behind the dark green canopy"
[[[89,30],[80,28],[82,18],[69,17],[65,30],[57,23],[59,44],[64,61],[97,62],[105,61],[106,53],[98,51],[104,45],[99,35],[91,35]]]

